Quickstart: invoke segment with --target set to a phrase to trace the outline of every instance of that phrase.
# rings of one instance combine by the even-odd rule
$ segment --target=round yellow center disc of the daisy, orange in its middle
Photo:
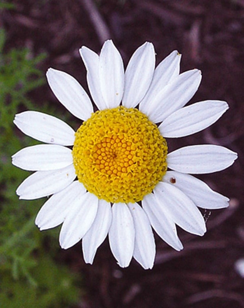
[[[75,133],[78,180],[99,199],[136,202],[151,193],[167,170],[167,143],[135,108],[97,111]]]

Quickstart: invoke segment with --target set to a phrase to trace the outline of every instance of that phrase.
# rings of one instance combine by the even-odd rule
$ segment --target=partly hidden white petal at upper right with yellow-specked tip
[[[150,88],[139,105],[140,111],[147,114],[155,95],[179,75],[180,58],[181,55],[175,50],[159,63],[153,74]]]

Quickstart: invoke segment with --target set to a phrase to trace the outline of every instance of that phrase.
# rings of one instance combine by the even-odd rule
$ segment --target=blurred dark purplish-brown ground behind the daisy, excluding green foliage
[[[244,1],[243,0],[133,0],[96,1],[106,25],[96,28],[87,0],[14,0],[16,9],[0,14],[7,31],[6,48],[29,47],[33,55],[46,52],[41,64],[68,72],[86,86],[85,67],[78,49],[100,51],[112,38],[125,63],[134,50],[151,41],[157,62],[172,50],[182,53],[181,70],[197,67],[203,79],[192,102],[226,100],[230,109],[203,132],[171,140],[170,150],[182,145],[220,144],[238,152],[235,164],[201,176],[213,189],[230,197],[230,207],[214,210],[203,238],[179,230],[184,244],[176,252],[156,237],[157,257],[152,270],[135,261],[129,268],[116,265],[107,240],[94,264],[86,265],[81,245],[60,249],[60,261],[85,276],[86,296],[77,307],[244,307],[243,278],[234,262],[244,257]],[[32,94],[37,109],[43,102],[57,106],[48,85]]]

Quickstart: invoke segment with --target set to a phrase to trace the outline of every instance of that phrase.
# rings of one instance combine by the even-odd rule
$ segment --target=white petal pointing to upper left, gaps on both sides
[[[92,103],[80,83],[71,75],[49,68],[47,79],[56,98],[78,119],[87,120],[93,112]]]

